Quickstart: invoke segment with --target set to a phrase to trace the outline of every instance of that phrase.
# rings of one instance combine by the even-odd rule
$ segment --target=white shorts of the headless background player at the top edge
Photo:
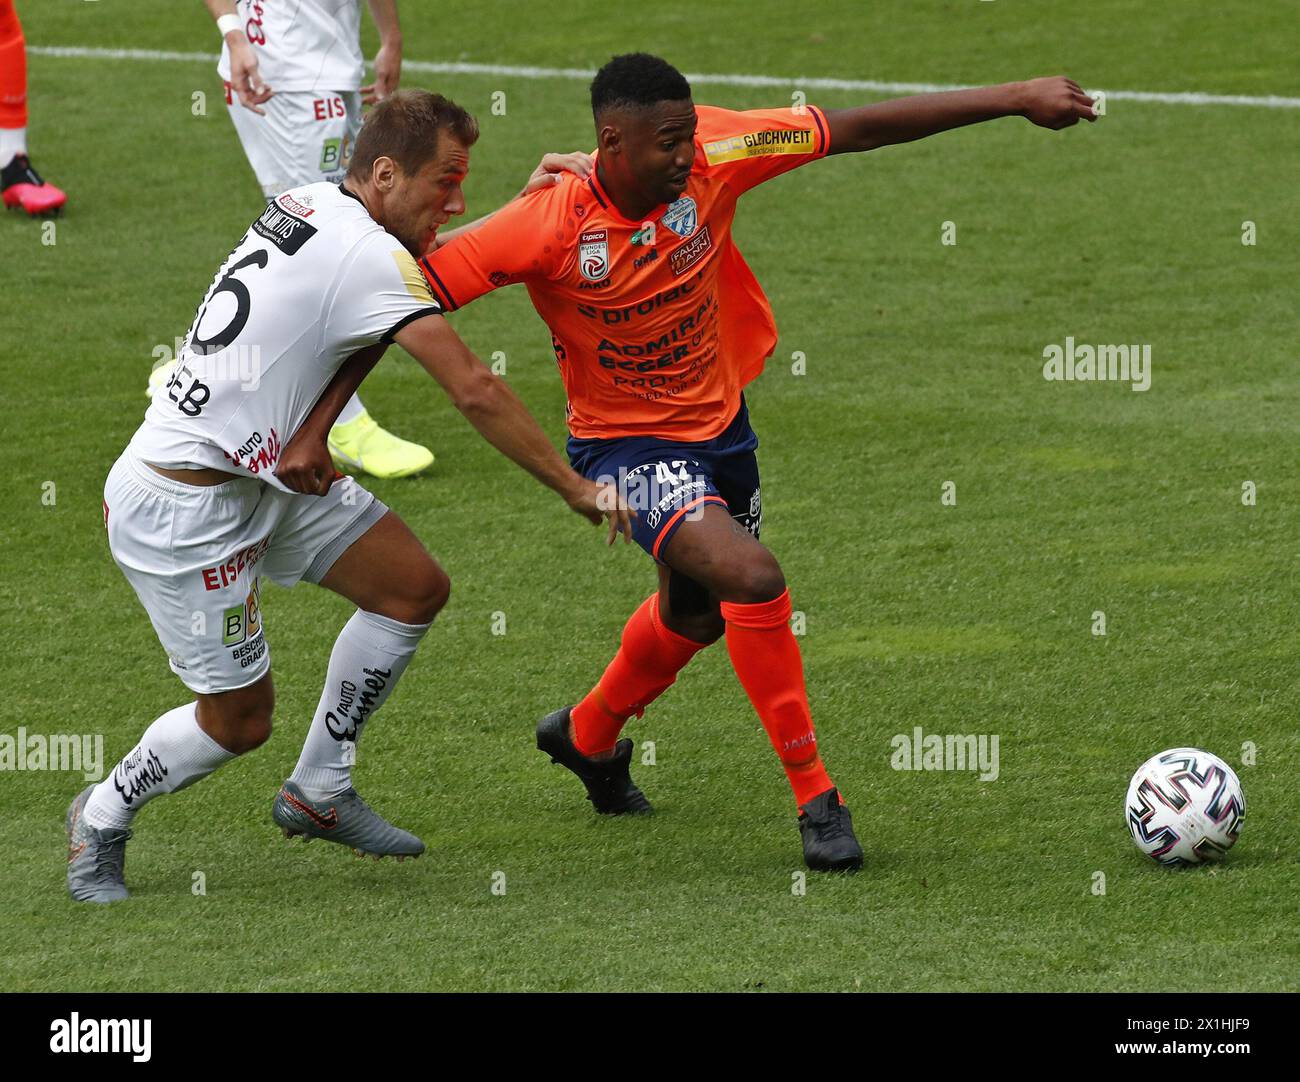
[[[343,179],[361,127],[359,91],[277,91],[261,108],[265,116],[246,109],[226,83],[226,111],[263,195]]]

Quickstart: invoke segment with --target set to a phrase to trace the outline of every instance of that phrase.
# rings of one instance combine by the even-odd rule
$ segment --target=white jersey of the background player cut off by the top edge
[[[263,82],[273,91],[360,88],[360,0],[238,0],[237,10]],[[217,73],[230,82],[226,46]]]

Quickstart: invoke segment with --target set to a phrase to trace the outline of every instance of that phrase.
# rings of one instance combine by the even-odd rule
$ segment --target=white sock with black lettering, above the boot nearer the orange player
[[[404,624],[360,609],[334,642],[325,691],[290,780],[312,800],[352,784],[356,741],[406,671],[429,624]]]

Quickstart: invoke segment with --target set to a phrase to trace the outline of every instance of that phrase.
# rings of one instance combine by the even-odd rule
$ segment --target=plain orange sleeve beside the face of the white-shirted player
[[[554,190],[542,190],[502,207],[477,229],[420,259],[429,289],[448,311],[502,286],[550,277],[558,244],[549,225],[556,217]]]

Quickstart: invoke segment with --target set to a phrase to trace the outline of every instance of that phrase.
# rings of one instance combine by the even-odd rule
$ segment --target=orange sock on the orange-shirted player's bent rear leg
[[[601,683],[573,707],[573,746],[584,756],[611,750],[628,718],[672,687],[686,662],[707,645],[666,628],[659,594],[650,594],[623,628],[623,645]]]

